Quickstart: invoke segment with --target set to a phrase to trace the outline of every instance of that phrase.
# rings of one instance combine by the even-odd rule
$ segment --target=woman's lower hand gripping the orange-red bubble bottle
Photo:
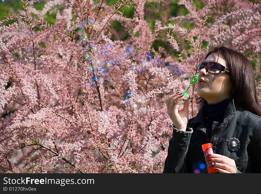
[[[207,154],[210,162],[215,162],[214,169],[220,173],[237,173],[235,161],[225,155]]]

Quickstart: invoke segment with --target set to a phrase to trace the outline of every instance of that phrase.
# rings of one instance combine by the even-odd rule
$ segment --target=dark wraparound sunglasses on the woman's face
[[[198,68],[196,73],[199,73],[199,71],[206,67],[206,71],[213,74],[219,74],[222,71],[225,73],[230,73],[230,70],[228,70],[225,66],[217,63],[217,62],[200,62],[198,64]]]

